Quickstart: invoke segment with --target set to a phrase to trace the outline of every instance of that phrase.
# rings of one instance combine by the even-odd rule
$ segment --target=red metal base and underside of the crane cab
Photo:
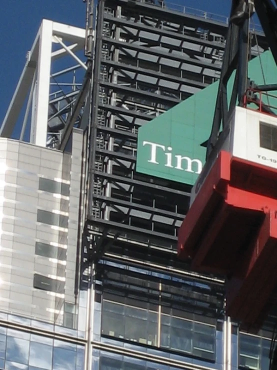
[[[257,327],[277,284],[277,170],[221,151],[179,229],[178,256],[227,276],[227,314]]]

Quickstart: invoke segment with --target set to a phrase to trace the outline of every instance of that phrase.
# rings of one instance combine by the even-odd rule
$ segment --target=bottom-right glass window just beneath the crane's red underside
[[[240,368],[260,370],[269,367],[269,339],[240,333],[238,346]]]

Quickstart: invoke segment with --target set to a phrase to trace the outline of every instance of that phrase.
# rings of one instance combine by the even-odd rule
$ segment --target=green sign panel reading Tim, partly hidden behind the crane
[[[261,64],[260,64],[261,61]],[[261,69],[262,65],[262,69]],[[270,52],[249,63],[249,77],[256,84],[277,83]],[[228,86],[228,96],[232,81]],[[200,144],[210,134],[218,82],[194,94],[138,130],[136,171],[172,181],[194,184],[204,165]],[[264,103],[267,99],[263,98]],[[277,100],[272,105],[277,106]]]

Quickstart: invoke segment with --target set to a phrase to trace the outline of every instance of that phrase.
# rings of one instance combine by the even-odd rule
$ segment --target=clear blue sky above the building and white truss
[[[170,3],[228,16],[231,1],[170,0]],[[82,0],[4,1],[0,12],[0,124],[43,18],[84,27],[85,3]]]

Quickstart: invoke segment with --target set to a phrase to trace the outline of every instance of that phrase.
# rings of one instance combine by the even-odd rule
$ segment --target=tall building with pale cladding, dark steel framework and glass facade
[[[239,333],[223,278],[176,257],[198,170],[136,168],[138,130],[154,140],[164,117],[194,143],[187,106],[212,112],[228,20],[162,1],[95,14],[86,32],[42,22],[0,129],[0,367],[263,369],[270,332]],[[254,57],[267,46],[253,35]]]

